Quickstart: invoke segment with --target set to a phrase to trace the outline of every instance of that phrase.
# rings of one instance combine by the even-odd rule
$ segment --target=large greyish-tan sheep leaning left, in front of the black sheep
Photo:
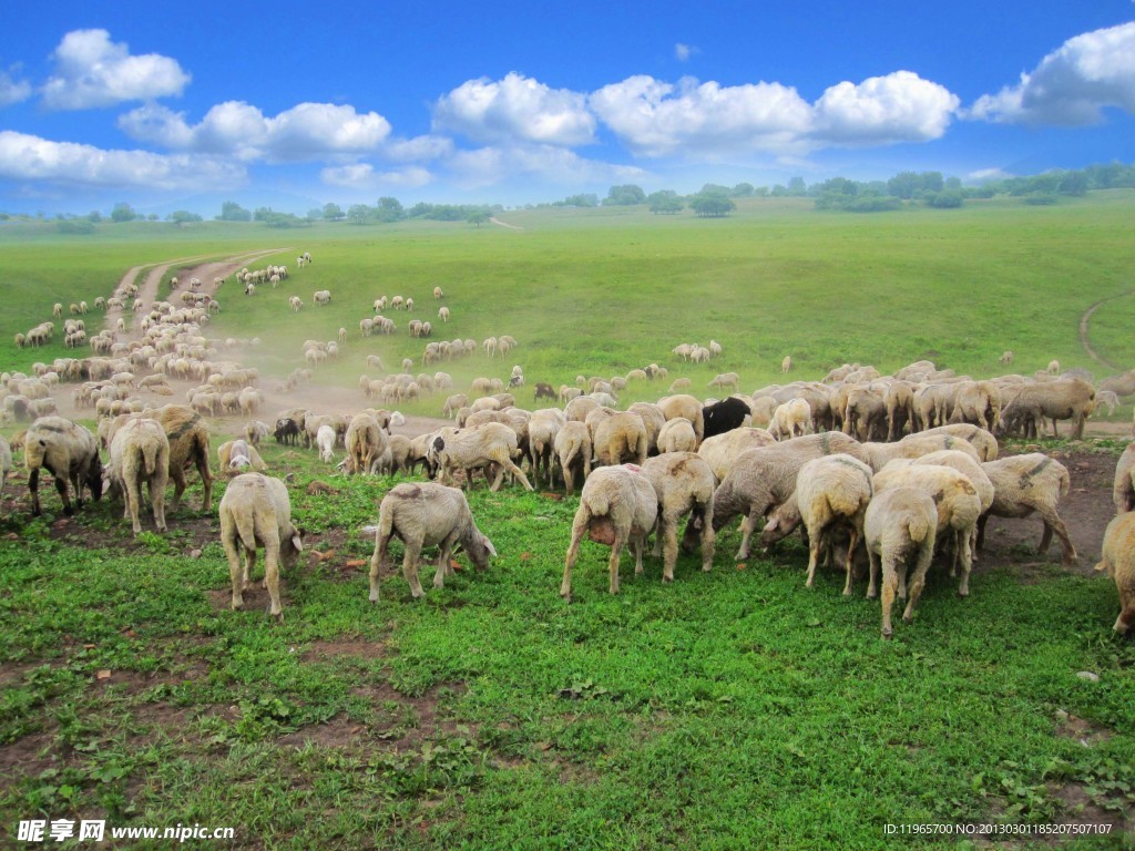
[[[716,531],[738,514],[745,515],[737,561],[749,557],[749,540],[757,521],[796,491],[800,467],[813,458],[835,453],[847,453],[863,462],[867,460],[858,440],[838,431],[796,437],[748,449],[738,457],[714,495],[713,519]]]

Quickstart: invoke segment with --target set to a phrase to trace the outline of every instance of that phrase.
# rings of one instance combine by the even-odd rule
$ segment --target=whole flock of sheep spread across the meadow
[[[310,254],[297,261],[300,267],[310,263]],[[286,275],[285,268],[270,267],[242,270],[237,279],[252,295],[258,281],[275,286]],[[191,292],[195,289],[191,283]],[[438,301],[444,297],[440,288],[434,295]],[[886,638],[892,634],[894,599],[906,600],[902,617],[909,622],[935,555],[958,576],[959,596],[969,593],[974,553],[981,549],[990,516],[1039,514],[1044,524],[1041,551],[1056,536],[1065,564],[1074,563],[1076,550],[1058,514],[1069,489],[1068,471],[1040,453],[998,458],[995,435],[1037,436],[1049,421],[1056,433],[1057,420],[1070,420],[1079,437],[1096,405],[1115,404],[1117,394],[1135,391],[1123,384],[1135,384],[1133,373],[1116,379],[1115,389],[1098,391],[1083,374],[1045,371],[972,380],[920,361],[893,376],[844,364],[819,381],[772,385],[750,395],[734,393],[708,401],[683,393],[692,386],[680,378],[657,402],[620,410],[619,395],[631,382],[667,378],[664,366],[650,364],[609,379],[580,376],[575,386],[561,386],[558,393],[548,382],[536,382],[533,401],[548,398],[562,406],[529,411],[518,406],[515,391],[524,387],[518,365],[507,386],[499,379],[477,379],[470,387],[472,398],[466,393],[451,394],[443,415],[453,418],[455,424],[414,438],[392,433],[401,415],[387,408],[354,415],[297,408],[281,412],[270,426],[254,419],[263,405],[257,370],[217,360],[225,343],[203,335],[212,312],[211,297],[183,298],[180,307],[157,302],[145,311],[136,296],[136,290],[116,292],[110,309],[125,311],[131,304],[141,317],[141,339],[119,343],[107,331],[99,335],[108,342],[100,354],[36,364],[32,377],[2,377],[5,412],[11,419],[34,420],[17,439],[30,471],[33,514],[42,511],[39,479],[47,471],[56,480],[67,514],[73,513],[70,490],[78,506],[84,489],[93,498],[104,489],[120,494],[135,533],[142,528],[145,486],[155,528],[165,531],[168,480],[175,483],[176,506],[191,466],[196,467],[204,489],[202,509],[210,511],[213,474],[204,418],[242,415],[247,419],[242,436],[225,443],[218,453],[221,473],[235,474],[219,505],[232,605],[243,606],[255,554],[262,548],[270,613],[277,617],[283,614],[279,568],[294,563],[303,541],[292,522],[286,486],[263,472],[257,446],[269,435],[278,443],[302,441],[328,464],[335,463],[335,452],[342,447],[345,457],[337,470],[343,474],[415,477],[392,488],[381,500],[373,529],[372,601],[378,599],[378,576],[388,566],[392,538],[403,541],[403,574],[414,597],[423,595],[418,579],[423,547],[442,549],[436,587],[444,582],[454,547],[461,546],[479,566],[496,555],[462,491],[480,473],[493,490],[502,488],[506,478],[528,490],[533,490],[533,481],[537,487],[546,482],[548,488],[562,482],[568,494],[581,485],[560,589],[565,599],[571,599],[572,570],[585,536],[611,546],[608,588],[616,593],[624,548],[631,548],[636,572],[641,573],[644,551],[654,534],[655,555],[662,556],[663,580],[669,582],[674,579],[683,519],[688,517],[682,546],[700,548],[703,570],[708,571],[716,534],[740,517],[738,559],[749,556],[755,534],[767,547],[802,529],[809,547],[807,585],[825,562],[844,571],[844,593],[850,595],[865,566],[867,596],[882,598]],[[302,307],[297,301],[293,297],[293,310]],[[330,293],[321,290],[313,301],[326,304]],[[380,313],[387,306],[410,311],[413,302],[402,296],[376,302],[376,315],[360,323],[363,336],[376,328],[394,330],[394,323]],[[61,318],[61,305],[56,307],[56,318]],[[73,313],[82,315],[82,309],[76,306]],[[444,305],[439,318],[448,319]],[[411,335],[429,336],[423,325],[413,320]],[[68,332],[75,330],[85,329],[72,327]],[[308,365],[338,356],[346,335],[340,329],[336,340],[308,340]],[[23,344],[28,345],[32,336],[23,335]],[[491,359],[515,347],[515,339],[507,336],[488,338],[480,346],[461,339],[430,343],[422,363],[466,356],[480,348]],[[720,357],[722,348],[711,340],[707,347],[682,344],[673,354],[698,363]],[[367,365],[385,372],[378,355],[369,355]],[[362,376],[364,396],[378,404],[396,404],[453,389],[448,373],[414,376],[412,361],[402,365],[401,373]],[[785,357],[782,370],[791,369],[791,359]],[[1052,371],[1059,373],[1059,365],[1053,364]],[[287,386],[303,378],[297,370]],[[188,390],[187,404],[155,408],[133,395],[140,387],[171,395],[168,379],[199,382]],[[73,399],[76,407],[94,408],[96,433],[58,416],[47,404],[60,384],[77,385]],[[735,391],[739,377],[723,372],[709,386]],[[107,453],[104,466],[102,452]],[[0,469],[7,473],[10,466],[10,448],[0,439]],[[1123,610],[1116,630],[1123,632],[1135,622],[1133,469],[1135,453],[1128,450],[1117,470],[1120,514],[1108,529],[1104,559],[1098,565],[1115,575],[1119,587]],[[426,480],[417,480],[422,473]]]

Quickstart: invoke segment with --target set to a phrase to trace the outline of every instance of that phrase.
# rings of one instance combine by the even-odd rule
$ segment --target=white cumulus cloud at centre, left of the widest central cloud
[[[434,104],[434,128],[485,143],[585,145],[595,141],[587,99],[520,74],[470,79]]]

